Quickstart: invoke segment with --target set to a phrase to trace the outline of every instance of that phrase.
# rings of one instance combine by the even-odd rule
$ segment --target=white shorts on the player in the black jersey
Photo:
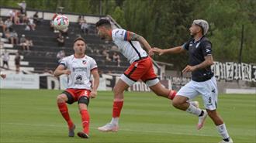
[[[203,104],[209,111],[213,111],[217,107],[218,102],[218,88],[216,84],[216,78],[212,77],[209,80],[203,82],[196,82],[191,80],[186,83],[184,87],[178,90],[177,95],[188,97],[192,100],[199,94],[202,95]]]

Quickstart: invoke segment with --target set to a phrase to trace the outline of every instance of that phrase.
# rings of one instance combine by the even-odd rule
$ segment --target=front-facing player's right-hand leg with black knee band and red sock
[[[82,96],[78,99],[78,107],[81,114],[81,124],[83,126],[83,131],[78,132],[78,136],[81,138],[89,138],[89,125],[90,125],[90,115],[87,110],[89,104],[89,98]]]

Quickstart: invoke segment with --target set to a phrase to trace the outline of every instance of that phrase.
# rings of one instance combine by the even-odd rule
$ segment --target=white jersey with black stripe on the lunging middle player
[[[123,56],[125,56],[130,63],[135,60],[140,60],[147,56],[147,52],[141,48],[138,41],[127,41],[129,32],[125,29],[113,29],[112,40],[118,46]]]

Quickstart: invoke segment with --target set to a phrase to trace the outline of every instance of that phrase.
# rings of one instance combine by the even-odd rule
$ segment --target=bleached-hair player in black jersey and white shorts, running
[[[185,66],[182,73],[192,72],[192,80],[178,91],[177,95],[172,100],[172,104],[182,111],[187,111],[190,114],[198,116],[198,129],[202,128],[206,117],[209,115],[214,124],[216,124],[217,131],[223,138],[220,143],[233,143],[223,119],[216,111],[218,89],[216,79],[210,68],[210,66],[213,65],[213,49],[212,43],[206,38],[208,29],[209,24],[206,20],[194,20],[189,29],[190,35],[193,38],[187,43],[170,49],[154,48],[153,52],[158,53],[159,55],[165,53],[182,53],[186,50],[189,52],[189,65]],[[187,102],[187,100],[192,99],[199,94],[202,95],[206,110],[197,108]]]

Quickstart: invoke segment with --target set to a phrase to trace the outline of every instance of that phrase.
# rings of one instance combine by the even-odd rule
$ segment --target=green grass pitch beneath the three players
[[[0,90],[0,142],[26,143],[216,143],[221,140],[213,122],[197,131],[197,117],[178,111],[168,100],[152,93],[125,94],[120,129],[102,133],[97,127],[110,121],[112,92],[91,100],[90,139],[67,137],[67,126],[57,110],[60,90]],[[201,99],[198,99],[202,103]],[[81,131],[78,105],[69,105],[76,132]],[[219,112],[236,143],[256,142],[256,95],[219,97]]]

